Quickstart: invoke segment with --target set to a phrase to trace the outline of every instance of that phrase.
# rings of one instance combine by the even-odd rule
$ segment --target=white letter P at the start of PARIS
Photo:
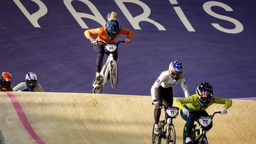
[[[34,3],[38,4],[39,10],[38,12],[35,12],[33,14],[29,14],[27,9],[24,7],[22,3],[20,3],[20,0],[14,0],[14,3],[20,8],[21,12],[27,17],[27,19],[30,21],[30,23],[33,25],[33,27],[40,27],[38,24],[38,19],[47,14],[48,10],[46,8],[46,5],[42,3],[40,0],[31,0]]]

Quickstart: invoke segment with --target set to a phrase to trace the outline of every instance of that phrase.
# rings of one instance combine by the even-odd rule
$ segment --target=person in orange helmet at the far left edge
[[[9,72],[2,72],[0,77],[0,91],[13,91],[11,83],[12,75]]]

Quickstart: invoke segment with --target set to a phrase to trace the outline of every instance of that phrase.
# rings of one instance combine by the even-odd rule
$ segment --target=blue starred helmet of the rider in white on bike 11
[[[169,74],[170,76],[177,80],[180,78],[180,76],[182,76],[183,73],[183,66],[182,63],[180,61],[171,61],[170,65],[169,65]]]

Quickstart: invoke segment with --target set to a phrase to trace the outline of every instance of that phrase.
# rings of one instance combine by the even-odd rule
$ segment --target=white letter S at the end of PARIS
[[[232,8],[229,7],[229,5],[217,1],[208,1],[203,4],[203,10],[205,10],[205,12],[207,12],[210,16],[214,16],[215,18],[219,18],[221,20],[227,20],[235,25],[235,28],[233,29],[226,29],[225,27],[221,27],[221,25],[218,25],[218,23],[212,23],[213,27],[225,33],[240,33],[244,30],[244,26],[238,20],[230,18],[229,16],[223,16],[221,14],[216,14],[215,12],[212,12],[212,6],[219,6],[221,8],[224,8],[226,11],[233,11]]]

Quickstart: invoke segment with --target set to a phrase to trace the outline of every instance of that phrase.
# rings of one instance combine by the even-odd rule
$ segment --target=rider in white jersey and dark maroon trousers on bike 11
[[[173,105],[173,88],[177,84],[182,86],[185,97],[189,96],[188,87],[186,85],[185,78],[183,76],[182,63],[179,61],[171,61],[169,70],[166,70],[160,74],[156,79],[154,85],[151,88],[151,96],[153,104],[156,106],[154,109],[154,134],[160,134],[160,127],[158,121],[161,115],[162,102],[164,102],[165,110]],[[168,119],[167,113],[165,113],[165,119]]]

